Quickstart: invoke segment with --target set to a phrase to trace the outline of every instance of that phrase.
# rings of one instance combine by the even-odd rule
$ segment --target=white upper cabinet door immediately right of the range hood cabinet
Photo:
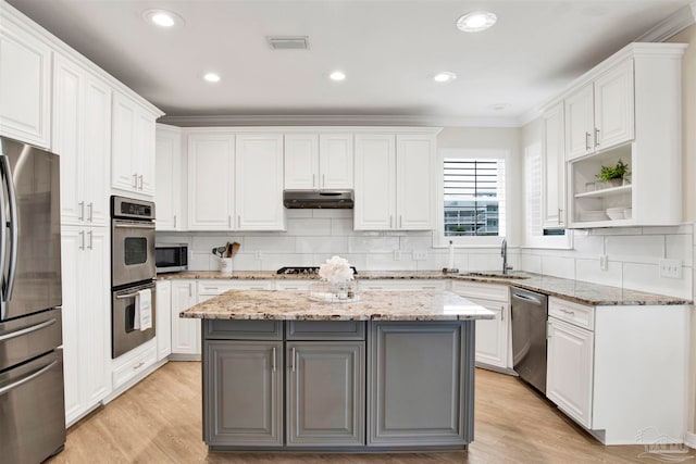
[[[356,230],[396,228],[395,146],[394,134],[356,135]]]

